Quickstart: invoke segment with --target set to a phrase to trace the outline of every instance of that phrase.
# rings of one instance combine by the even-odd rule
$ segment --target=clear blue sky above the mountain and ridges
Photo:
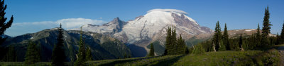
[[[69,29],[84,23],[102,25],[116,17],[133,20],[155,8],[185,11],[211,29],[217,20],[222,29],[225,22],[228,29],[256,29],[258,23],[262,25],[266,6],[273,34],[280,33],[284,21],[283,0],[6,0],[5,4],[6,17],[14,15],[13,25],[5,33],[12,37],[58,27],[57,22],[75,23],[65,26]]]

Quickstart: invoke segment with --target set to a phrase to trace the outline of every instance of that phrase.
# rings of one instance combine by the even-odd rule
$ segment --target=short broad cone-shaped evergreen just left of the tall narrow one
[[[40,62],[40,50],[36,47],[36,44],[33,43],[33,41],[29,41],[25,63],[34,64],[35,62]]]

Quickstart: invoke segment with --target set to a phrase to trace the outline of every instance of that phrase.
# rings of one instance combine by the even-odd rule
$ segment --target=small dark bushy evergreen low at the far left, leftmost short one
[[[6,53],[4,61],[6,62],[16,62],[17,61],[17,55],[15,51],[14,46],[9,46],[8,53]]]

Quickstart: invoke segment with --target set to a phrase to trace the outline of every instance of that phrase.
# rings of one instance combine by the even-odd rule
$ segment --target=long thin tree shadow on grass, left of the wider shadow
[[[119,64],[119,63],[131,62],[131,61],[135,61],[135,60],[150,59],[150,58],[157,58],[157,57],[160,57],[160,56],[149,57],[149,58],[138,58],[138,59],[131,59],[131,60],[116,60],[114,62],[108,62],[106,64],[102,64],[102,65],[99,65],[99,66],[114,66],[114,65]]]

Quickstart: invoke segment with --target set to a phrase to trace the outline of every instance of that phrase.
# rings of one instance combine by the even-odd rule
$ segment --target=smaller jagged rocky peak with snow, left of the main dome
[[[97,32],[102,34],[114,34],[116,32],[120,32],[122,27],[124,27],[124,25],[126,24],[127,22],[119,20],[119,18],[114,18],[114,20],[104,25],[91,25],[91,24],[83,25],[82,30],[89,32]],[[80,30],[80,28],[68,29],[68,30]]]

